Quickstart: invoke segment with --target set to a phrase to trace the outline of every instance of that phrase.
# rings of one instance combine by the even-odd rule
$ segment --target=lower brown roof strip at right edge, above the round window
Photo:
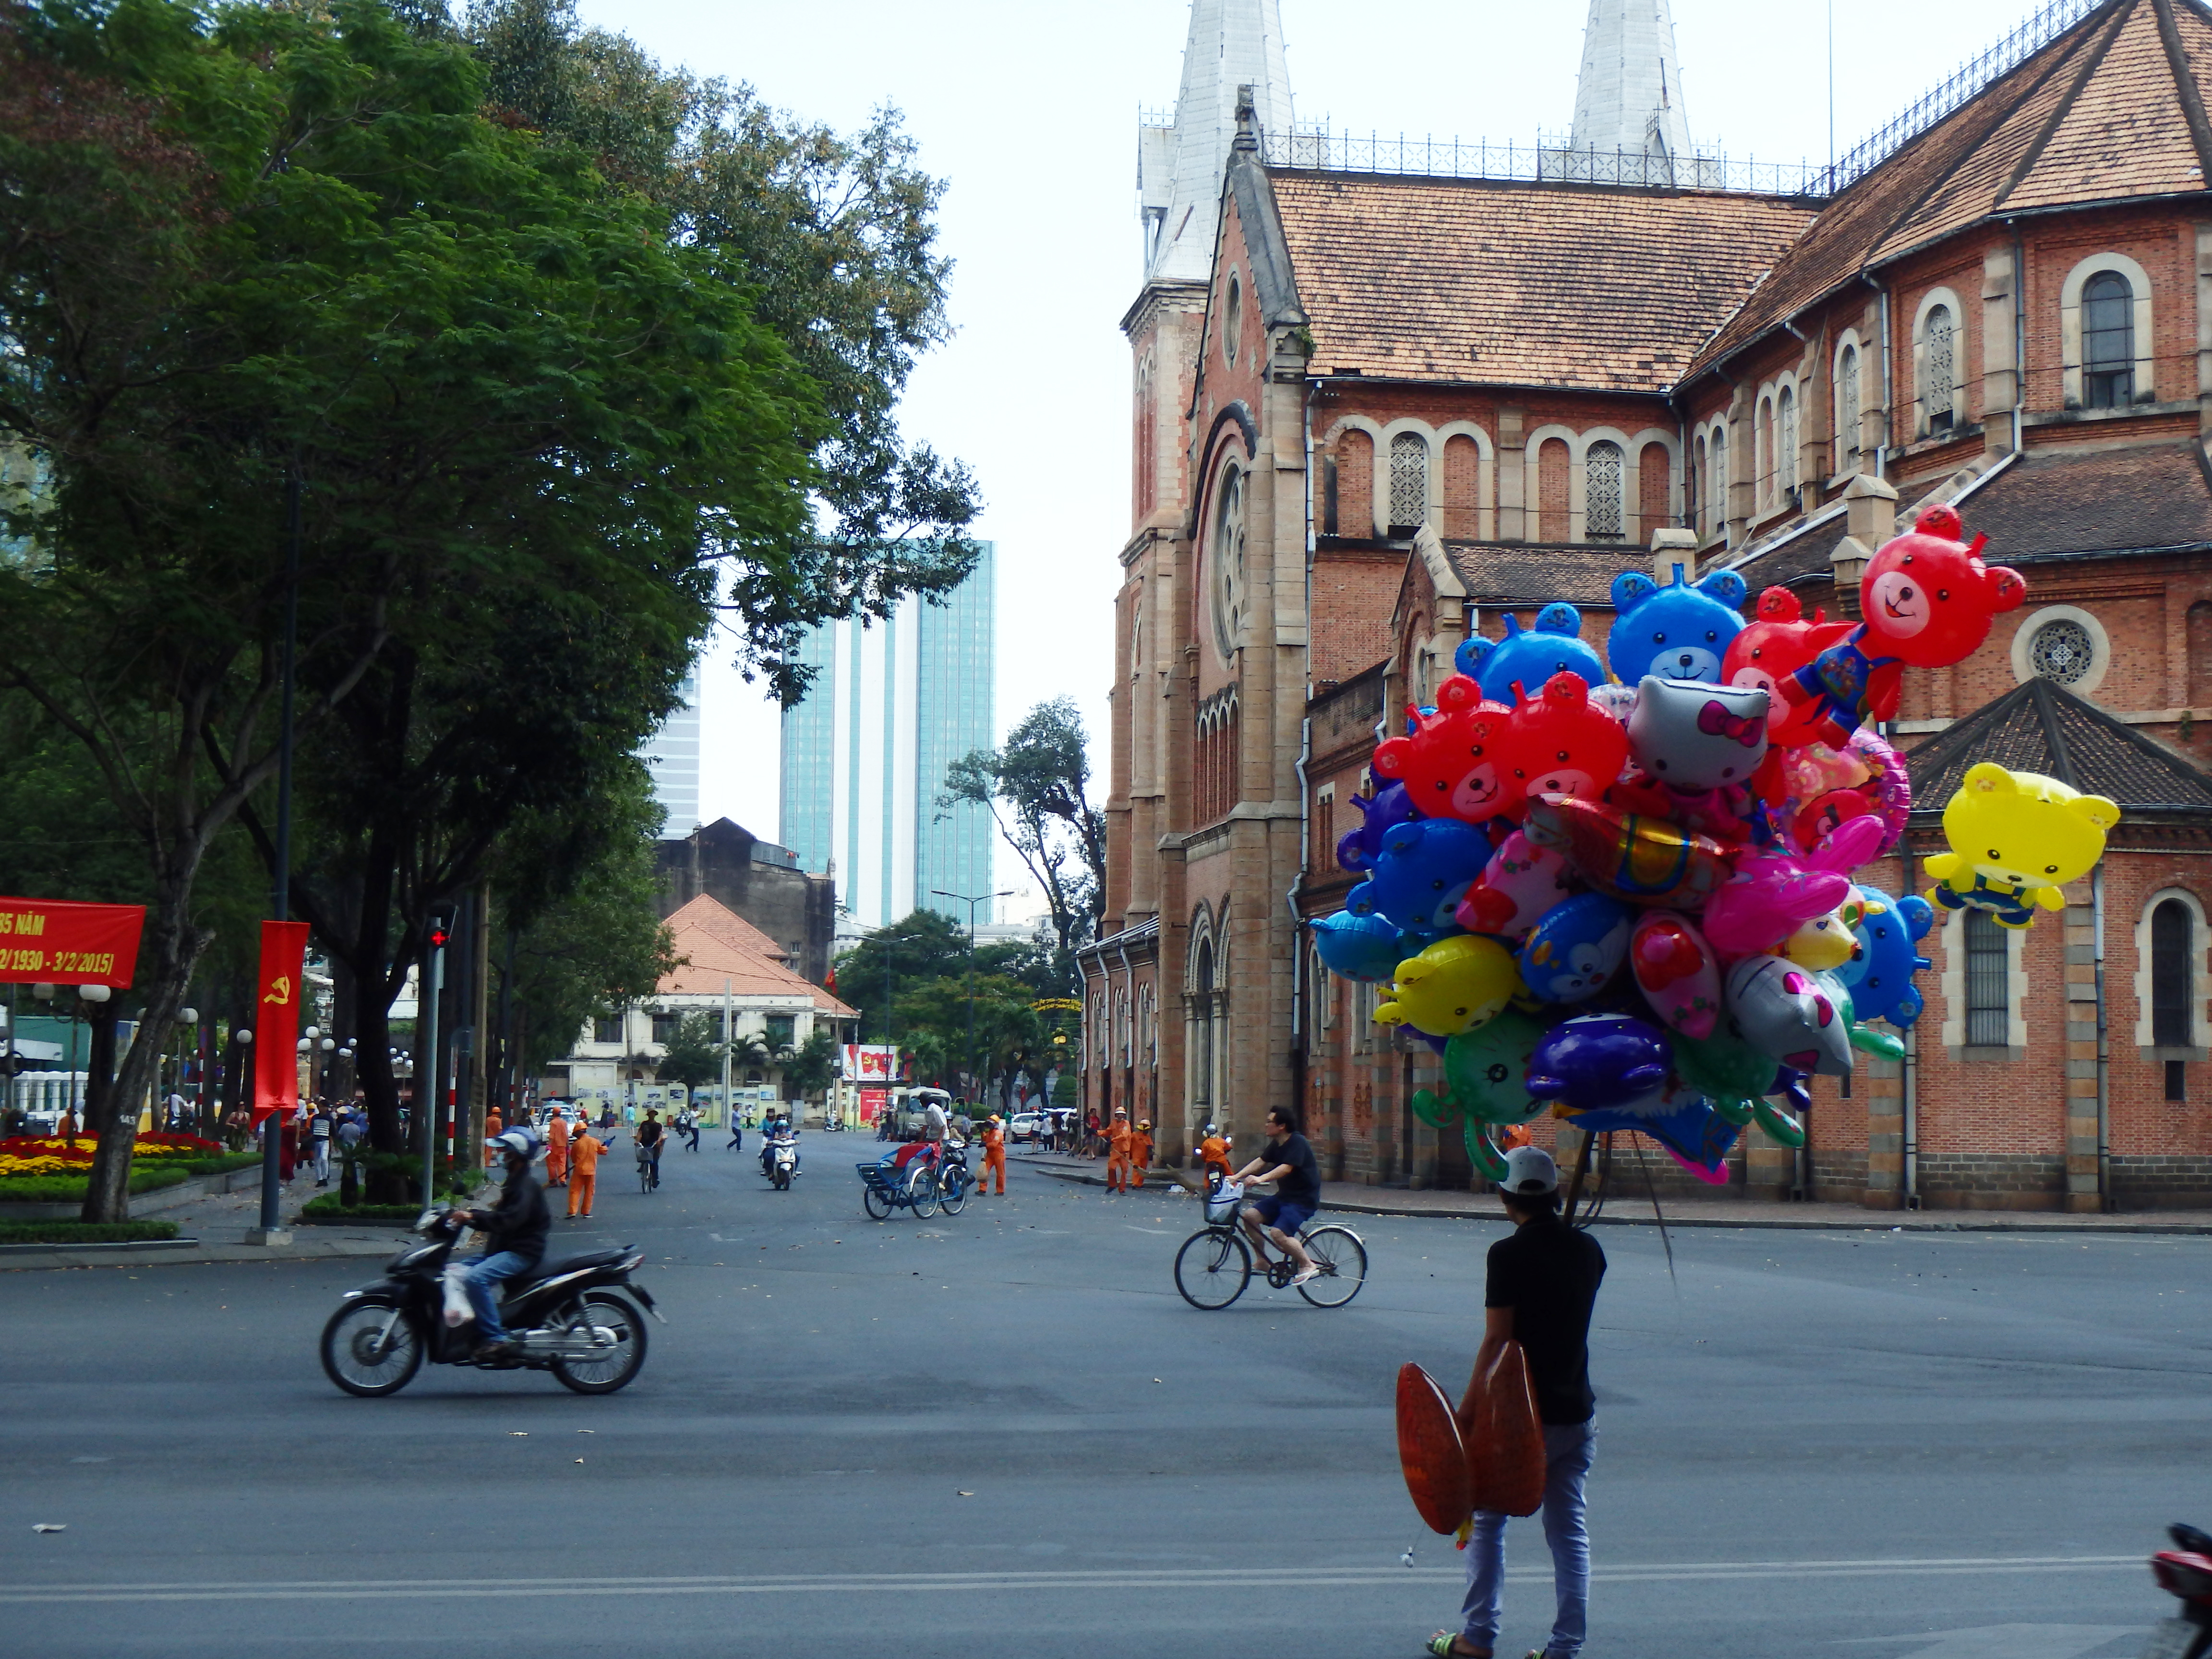
[[[2028,449],[1960,502],[1989,560],[2212,544],[2212,489],[2194,442]]]

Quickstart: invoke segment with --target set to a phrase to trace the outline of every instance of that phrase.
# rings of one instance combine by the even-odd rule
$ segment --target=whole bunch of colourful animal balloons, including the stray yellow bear
[[[1730,571],[1628,573],[1604,661],[1551,604],[1462,644],[1436,706],[1407,710],[1336,847],[1367,878],[1314,931],[1334,973],[1389,984],[1378,1022],[1442,1053],[1444,1093],[1413,1106],[1458,1119],[1489,1179],[1493,1130],[1555,1113],[1719,1183],[1745,1124],[1803,1144],[1807,1077],[1902,1053],[1869,1022],[1920,1015],[1933,909],[1854,880],[1911,810],[1874,721],[1907,666],[1962,661],[2026,597],[1980,551],[1927,509],[1869,560],[1856,624],[1805,619],[1785,588],[1745,624]],[[1944,812],[1929,898],[2026,927],[2117,818],[1984,761]]]

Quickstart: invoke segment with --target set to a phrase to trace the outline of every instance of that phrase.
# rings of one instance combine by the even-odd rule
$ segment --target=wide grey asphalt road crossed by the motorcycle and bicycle
[[[1360,1217],[1349,1307],[1199,1314],[1190,1199],[1015,1159],[872,1223],[867,1141],[810,1137],[790,1194],[706,1146],[562,1225],[641,1243],[670,1318],[613,1398],[341,1396],[314,1343],[374,1263],[0,1272],[0,1655],[1367,1659],[1451,1621],[1391,1380],[1464,1371],[1502,1223]],[[2208,1241],[1677,1232],[1670,1279],[1599,1237],[1593,1659],[2117,1659],[2163,1617],[2141,1559],[2212,1517]],[[1535,1522],[1509,1559],[1520,1655]]]

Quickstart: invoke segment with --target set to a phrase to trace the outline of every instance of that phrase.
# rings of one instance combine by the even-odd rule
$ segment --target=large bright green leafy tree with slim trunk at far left
[[[836,422],[750,274],[482,84],[372,0],[0,20],[0,442],[35,473],[0,628],[40,641],[0,690],[144,847],[124,1099],[208,945],[201,863],[279,765],[288,606],[312,743],[449,588],[690,639],[717,564],[748,633],[818,604],[792,549]],[[115,737],[139,721],[150,754]],[[102,1139],[88,1219],[126,1214],[128,1159]]]

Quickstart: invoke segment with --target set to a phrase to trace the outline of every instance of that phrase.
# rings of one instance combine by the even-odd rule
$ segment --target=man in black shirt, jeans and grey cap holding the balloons
[[[1559,1166],[1540,1146],[1506,1152],[1498,1186],[1513,1232],[1491,1245],[1482,1296],[1482,1349],[1460,1400],[1460,1433],[1471,1436],[1482,1376],[1506,1343],[1528,1360],[1537,1418],[1544,1422],[1544,1542],[1557,1613],[1542,1659],[1575,1659],[1588,1628],[1590,1531],[1584,1482],[1597,1449],[1590,1394],[1590,1310],[1606,1276],[1606,1252],[1559,1214]],[[1467,1599],[1460,1630],[1438,1630],[1438,1659],[1484,1659],[1498,1646],[1504,1617],[1506,1517],[1478,1509],[1467,1537]]]

